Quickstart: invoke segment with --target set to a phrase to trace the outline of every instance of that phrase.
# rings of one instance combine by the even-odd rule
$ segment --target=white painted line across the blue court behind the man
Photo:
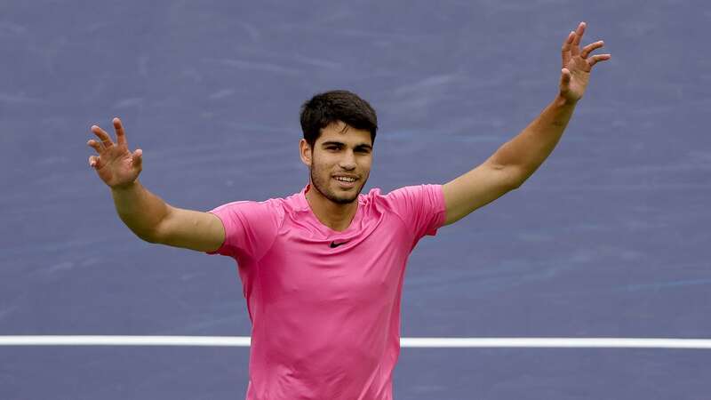
[[[249,336],[0,336],[0,346],[249,347]],[[403,348],[707,348],[711,339],[402,338]]]

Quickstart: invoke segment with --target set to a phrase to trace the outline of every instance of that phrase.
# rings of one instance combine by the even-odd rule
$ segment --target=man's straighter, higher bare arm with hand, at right
[[[555,100],[483,164],[443,185],[447,210],[444,225],[460,220],[508,191],[519,188],[553,151],[578,100],[585,93],[591,68],[597,61],[611,58],[610,54],[590,55],[590,52],[603,47],[603,41],[580,49],[585,28],[585,22],[580,22],[563,42],[563,68]]]

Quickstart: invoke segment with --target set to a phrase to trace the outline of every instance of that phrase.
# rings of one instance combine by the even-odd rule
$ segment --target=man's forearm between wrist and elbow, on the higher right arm
[[[514,167],[518,185],[535,172],[553,152],[570,121],[576,102],[557,96],[531,124],[491,156],[491,162]]]

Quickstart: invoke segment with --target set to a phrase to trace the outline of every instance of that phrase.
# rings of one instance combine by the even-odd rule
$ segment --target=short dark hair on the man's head
[[[372,143],[378,132],[378,116],[371,105],[356,93],[344,90],[318,93],[304,102],[300,120],[304,139],[311,148],[316,145],[321,130],[337,121],[371,132]]]

